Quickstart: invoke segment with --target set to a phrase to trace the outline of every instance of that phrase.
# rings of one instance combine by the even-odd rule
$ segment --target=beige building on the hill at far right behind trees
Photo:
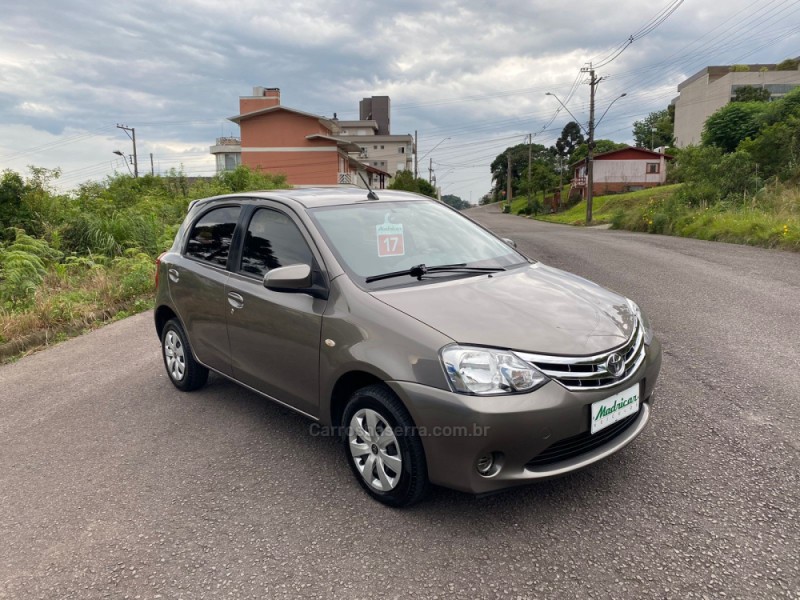
[[[749,71],[731,66],[706,67],[678,86],[675,105],[675,145],[699,144],[706,119],[736,96],[741,87],[763,88],[780,98],[800,86],[800,70],[776,71],[776,65],[746,65]]]

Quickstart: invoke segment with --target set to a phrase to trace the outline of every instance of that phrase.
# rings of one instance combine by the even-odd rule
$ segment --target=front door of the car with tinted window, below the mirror
[[[278,203],[248,209],[241,260],[226,290],[233,376],[258,391],[315,416],[319,406],[319,348],[326,301],[264,287],[271,269],[318,268],[313,242],[295,215]]]

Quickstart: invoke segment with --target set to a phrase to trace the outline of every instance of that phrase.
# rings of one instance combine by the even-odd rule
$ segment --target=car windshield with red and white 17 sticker
[[[469,219],[433,201],[379,201],[311,209],[312,219],[342,267],[362,285],[367,278],[418,265],[453,267],[426,278],[475,274],[460,267],[502,270],[527,264],[508,244]],[[412,276],[370,282],[406,285]]]

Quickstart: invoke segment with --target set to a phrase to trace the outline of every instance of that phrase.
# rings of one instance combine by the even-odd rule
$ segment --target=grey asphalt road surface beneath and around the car
[[[0,367],[0,598],[800,598],[800,256],[471,215],[650,315],[636,442],[388,509],[300,416],[174,390],[146,313]]]

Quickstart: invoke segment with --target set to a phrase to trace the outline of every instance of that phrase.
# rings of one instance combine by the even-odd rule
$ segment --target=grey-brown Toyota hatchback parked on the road
[[[633,301],[386,190],[193,203],[155,322],[178,389],[214,371],[306,415],[392,506],[602,460],[647,424],[661,367]]]

